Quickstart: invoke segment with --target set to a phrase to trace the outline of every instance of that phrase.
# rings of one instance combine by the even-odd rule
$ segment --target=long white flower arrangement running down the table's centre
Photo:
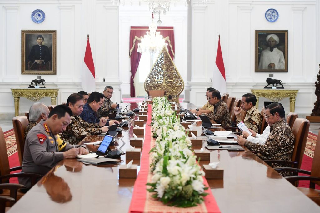
[[[147,190],[171,206],[191,207],[201,203],[207,195],[204,172],[196,163],[191,141],[166,97],[153,99],[151,130],[156,146],[150,150],[153,177]]]

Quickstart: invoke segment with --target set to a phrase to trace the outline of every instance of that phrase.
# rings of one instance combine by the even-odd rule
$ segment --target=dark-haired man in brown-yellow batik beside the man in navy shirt
[[[83,111],[83,105],[82,95],[73,93],[68,97],[67,106],[73,115],[67,129],[61,133],[61,138],[69,144],[77,145],[87,135],[97,135],[108,131],[108,127],[104,126],[107,121],[105,118],[102,118],[100,123],[87,123],[79,116]]]

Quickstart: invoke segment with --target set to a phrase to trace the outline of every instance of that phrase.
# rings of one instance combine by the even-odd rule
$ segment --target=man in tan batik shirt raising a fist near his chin
[[[256,133],[260,132],[262,123],[262,115],[259,109],[256,107],[257,98],[251,93],[244,94],[241,99],[241,107],[246,112],[244,118],[244,124],[248,129],[252,129]],[[241,122],[240,113],[241,108],[235,107],[234,113],[236,115],[236,124]]]

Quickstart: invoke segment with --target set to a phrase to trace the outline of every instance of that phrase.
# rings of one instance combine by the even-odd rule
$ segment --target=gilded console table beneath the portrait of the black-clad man
[[[56,104],[59,89],[11,89],[14,99],[14,114],[19,115],[20,97],[31,101],[38,101],[44,97],[51,97],[51,104]]]

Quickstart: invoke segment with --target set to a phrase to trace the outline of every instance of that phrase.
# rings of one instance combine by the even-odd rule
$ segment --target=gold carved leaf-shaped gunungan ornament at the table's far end
[[[144,82],[144,89],[146,91],[165,90],[167,97],[171,95],[172,101],[179,103],[179,95],[184,89],[184,82],[165,47],[151,68]]]

